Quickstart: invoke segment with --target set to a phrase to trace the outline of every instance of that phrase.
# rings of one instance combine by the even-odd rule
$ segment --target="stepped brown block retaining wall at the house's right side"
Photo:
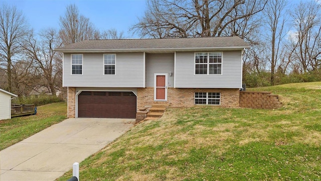
[[[254,109],[276,109],[281,108],[282,103],[278,99],[278,95],[271,92],[240,92],[240,107]]]

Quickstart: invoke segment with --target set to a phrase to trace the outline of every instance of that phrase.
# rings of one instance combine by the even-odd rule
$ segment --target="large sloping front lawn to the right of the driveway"
[[[80,178],[321,179],[321,82],[250,90],[280,95],[283,108],[168,109],[81,162]]]

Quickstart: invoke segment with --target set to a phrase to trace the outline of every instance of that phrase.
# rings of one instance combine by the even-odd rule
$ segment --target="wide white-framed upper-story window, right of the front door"
[[[222,74],[222,52],[195,53],[195,74]]]

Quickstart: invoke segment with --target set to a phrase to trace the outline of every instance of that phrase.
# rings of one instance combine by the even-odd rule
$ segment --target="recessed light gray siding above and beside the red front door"
[[[174,56],[174,53],[147,54],[147,87],[154,86],[154,73],[167,73],[168,86],[174,87]]]

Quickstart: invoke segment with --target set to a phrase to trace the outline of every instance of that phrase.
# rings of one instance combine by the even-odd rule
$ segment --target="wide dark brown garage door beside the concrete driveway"
[[[78,117],[135,118],[136,96],[132,92],[83,91],[78,95]]]

